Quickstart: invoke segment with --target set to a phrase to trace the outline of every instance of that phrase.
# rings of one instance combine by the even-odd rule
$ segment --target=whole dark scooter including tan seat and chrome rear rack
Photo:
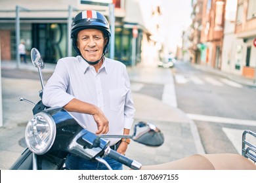
[[[41,69],[44,68],[40,53],[32,49],[32,63],[37,67],[41,80]],[[42,96],[43,90],[39,92]],[[26,99],[21,99],[32,103]],[[32,103],[33,104],[33,103]],[[64,108],[46,108],[39,101],[33,108],[33,118],[26,127],[26,143],[28,148],[12,165],[11,169],[68,169],[65,159],[72,153],[85,159],[104,163],[102,159],[109,156],[127,165],[131,169],[140,170],[256,170],[256,146],[249,137],[256,139],[253,131],[242,134],[242,155],[240,154],[194,154],[158,165],[142,166],[139,162],[118,154],[108,146],[104,138],[129,138],[147,146],[161,146],[164,138],[160,129],[153,124],[139,122],[134,127],[133,135],[98,135],[83,129]]]

